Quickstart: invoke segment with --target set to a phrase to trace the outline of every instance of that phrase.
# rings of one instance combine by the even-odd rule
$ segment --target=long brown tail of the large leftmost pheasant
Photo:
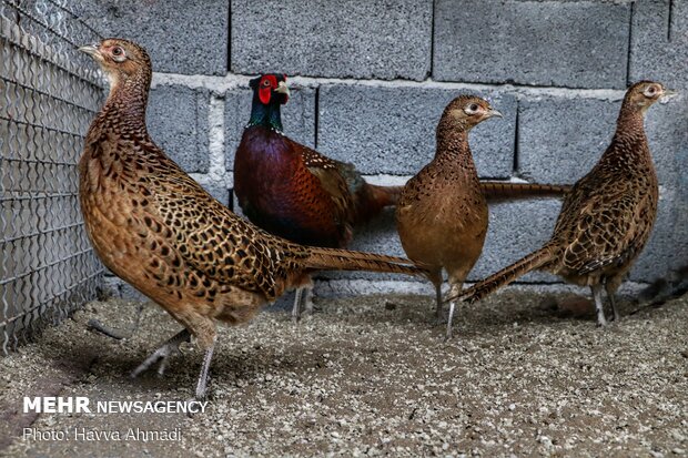
[[[350,250],[308,248],[304,266],[317,271],[371,271],[408,275],[427,275],[427,271],[404,257],[353,252]]]

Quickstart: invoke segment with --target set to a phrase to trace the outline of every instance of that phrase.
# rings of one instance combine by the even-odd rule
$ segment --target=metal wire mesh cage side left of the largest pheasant
[[[78,162],[103,100],[77,51],[101,37],[80,0],[0,0],[0,347],[58,323],[102,282],[79,207]]]

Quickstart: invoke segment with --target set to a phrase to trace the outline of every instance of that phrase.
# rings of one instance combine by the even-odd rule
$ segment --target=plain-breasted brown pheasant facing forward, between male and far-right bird
[[[437,125],[435,157],[406,183],[397,203],[402,246],[411,259],[429,271],[437,322],[444,319],[442,269],[448,274],[449,294],[458,294],[485,243],[487,201],[468,146],[468,133],[494,116],[502,118],[502,113],[480,98],[454,99]],[[447,339],[452,337],[454,307],[452,302]]]

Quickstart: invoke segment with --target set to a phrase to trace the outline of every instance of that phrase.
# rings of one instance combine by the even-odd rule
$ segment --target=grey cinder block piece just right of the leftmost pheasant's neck
[[[184,171],[208,172],[210,92],[159,85],[151,91],[149,102],[146,122],[153,141]]]

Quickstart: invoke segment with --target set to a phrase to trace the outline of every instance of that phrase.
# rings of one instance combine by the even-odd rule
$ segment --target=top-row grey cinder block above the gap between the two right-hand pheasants
[[[628,2],[438,0],[433,77],[624,88],[629,18]]]

